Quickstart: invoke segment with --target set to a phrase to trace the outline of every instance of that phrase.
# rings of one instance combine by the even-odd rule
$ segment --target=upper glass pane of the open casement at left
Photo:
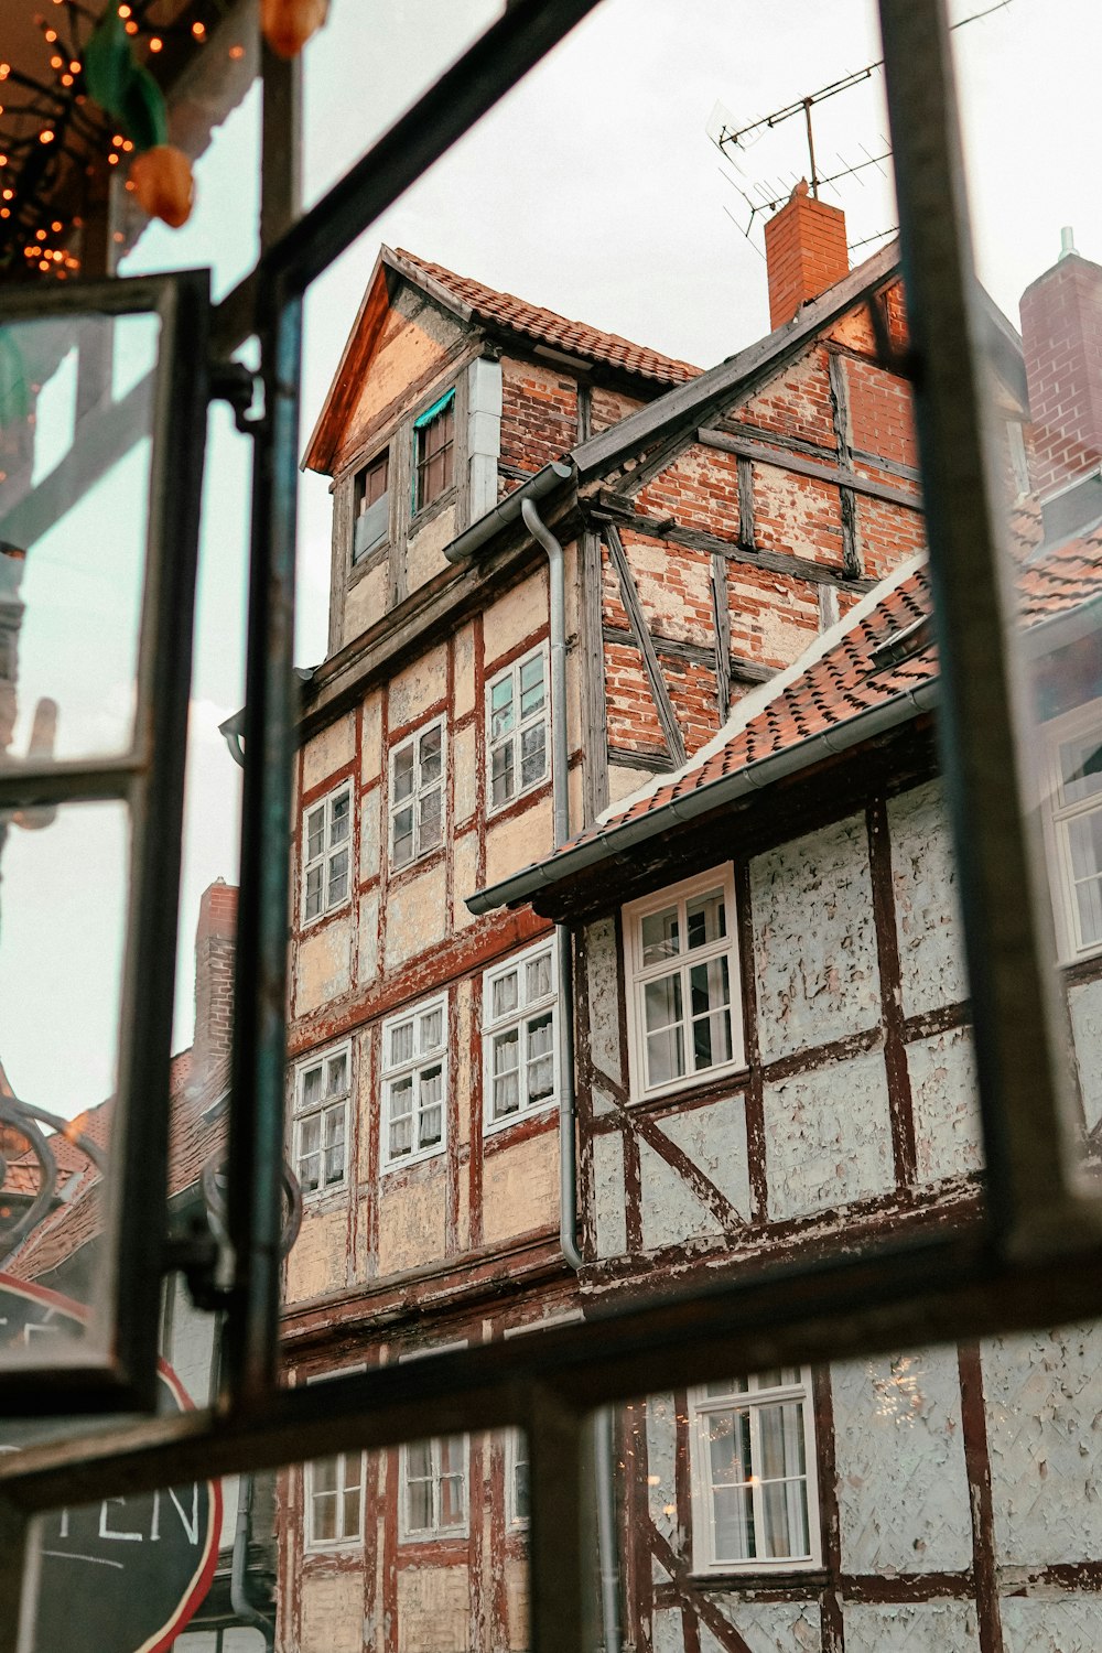
[[[12,605],[3,631],[18,660],[0,765],[132,746],[155,374],[131,393],[122,453],[104,415],[116,359],[137,350],[154,365],[159,339],[155,316],[0,327],[0,600]],[[73,350],[79,374],[64,369]],[[40,428],[43,395],[50,425]]]

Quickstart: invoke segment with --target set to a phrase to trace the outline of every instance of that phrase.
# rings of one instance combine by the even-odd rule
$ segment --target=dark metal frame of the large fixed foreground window
[[[697,1284],[539,1337],[334,1377],[276,1382],[286,843],[294,752],[291,612],[302,294],[425,167],[595,0],[514,0],[415,109],[297,222],[287,210],[292,81],[266,63],[264,236],[258,271],[215,312],[231,349],[258,331],[268,415],[253,517],[246,798],[231,1119],[230,1223],[238,1274],[223,1405],[0,1461],[0,1589],[13,1600],[36,1511],[193,1474],[271,1468],[426,1433],[520,1427],[532,1461],[535,1650],[582,1646],[588,1555],[587,1415],[732,1370],[811,1364],[899,1344],[1047,1326],[1102,1308],[1099,1202],[1066,1164],[1059,1020],[1038,848],[1026,828],[1016,707],[1024,707],[1003,593],[1000,509],[986,469],[986,364],[953,106],[943,0],[881,0],[915,367],[937,636],[942,755],[962,869],[988,1159],[988,1217],[897,1236],[876,1253]],[[283,159],[281,159],[283,157]],[[283,220],[283,222],[281,222]],[[283,233],[281,233],[283,231]],[[1021,724],[1024,727],[1024,724]],[[1005,889],[1018,893],[1001,901]],[[13,1653],[15,1615],[0,1622]]]

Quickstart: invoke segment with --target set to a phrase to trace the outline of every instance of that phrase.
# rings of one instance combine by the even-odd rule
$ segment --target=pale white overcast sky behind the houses
[[[963,18],[990,3],[952,0],[950,15]],[[306,53],[307,203],[499,10],[487,0],[332,0],[330,21]],[[1018,296],[1056,260],[1062,225],[1076,228],[1087,258],[1102,261],[1094,114],[1102,18],[1094,0],[1009,0],[953,40],[978,268],[1016,321]],[[786,188],[806,172],[803,127],[788,121],[767,129],[739,154],[735,169],[709,139],[717,106],[727,124],[742,126],[877,58],[867,0],[603,0],[314,284],[306,309],[304,445],[380,241],[701,367],[767,332],[765,215],[745,235],[743,197],[755,198],[758,185],[765,195]],[[192,222],[182,231],[150,226],[126,263],[127,274],[210,264],[215,294],[245,274],[256,256],[258,122],[254,88],[198,165]],[[872,73],[816,109],[821,174],[881,157],[886,134],[882,78]],[[862,243],[854,261],[895,225],[889,170],[864,165],[824,190],[846,210],[851,243]],[[64,430],[64,398],[59,383],[58,430]],[[55,446],[64,440],[55,436]],[[88,580],[99,572],[93,559],[107,536],[127,514],[134,517],[142,488],[135,463],[135,456],[122,461],[94,499],[53,531],[58,545],[66,542],[66,557],[58,560],[45,542],[31,550],[17,752],[38,694],[61,699],[69,734],[81,727],[78,669],[84,689],[96,683],[97,726],[129,709],[129,656],[116,646],[126,630],[121,612],[97,625],[91,641],[81,633],[86,622],[66,620],[61,608],[53,622],[45,613],[59,569],[84,557]],[[218,724],[241,704],[248,501],[248,438],[225,407],[215,407],[173,1048],[192,1036],[198,898],[215,878],[236,878],[240,772]],[[317,663],[325,650],[329,509],[327,481],[304,476],[301,665]],[[132,588],[134,577],[131,564],[124,587]],[[40,833],[13,831],[5,850],[0,1060],[20,1094],[63,1114],[112,1088],[122,845],[117,817],[97,807],[59,817]]]

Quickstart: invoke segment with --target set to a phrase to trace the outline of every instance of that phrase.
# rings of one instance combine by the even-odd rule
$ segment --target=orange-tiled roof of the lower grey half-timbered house
[[[1102,600],[1102,521],[1036,550],[1029,539],[1034,522],[1029,506],[1014,512],[1019,615],[1029,628]],[[530,899],[681,822],[929,711],[937,703],[930,615],[927,565],[919,557],[869,592],[786,671],[743,696],[719,734],[674,775],[648,782],[545,861],[479,891],[468,906],[487,912]]]

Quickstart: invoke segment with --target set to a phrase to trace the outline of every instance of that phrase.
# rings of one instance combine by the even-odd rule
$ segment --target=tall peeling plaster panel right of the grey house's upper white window
[[[864,818],[750,863],[762,1060],[879,1022],[879,970]]]

